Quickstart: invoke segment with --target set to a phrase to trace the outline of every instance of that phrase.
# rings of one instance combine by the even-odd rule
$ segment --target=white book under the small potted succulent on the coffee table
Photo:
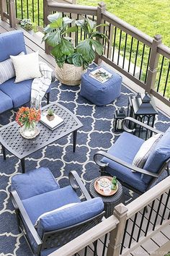
[[[48,115],[48,112],[42,113],[40,121],[42,122],[42,124],[45,124],[46,127],[48,127],[49,129],[52,129],[52,130],[56,129],[59,126],[61,126],[61,124],[63,124],[64,122],[61,116],[54,114],[54,119],[50,121],[48,120],[47,115]]]

